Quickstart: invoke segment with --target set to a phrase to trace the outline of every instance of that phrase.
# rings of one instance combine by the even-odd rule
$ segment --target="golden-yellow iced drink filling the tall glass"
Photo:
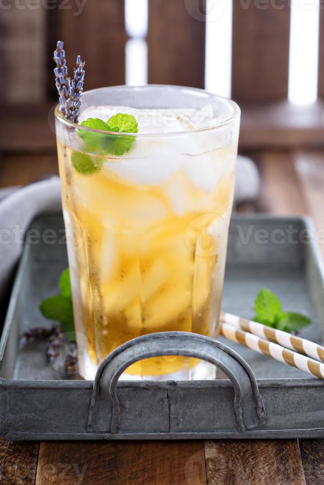
[[[218,335],[237,136],[220,143],[215,134],[185,128],[141,139],[140,125],[129,152],[97,154],[101,168],[86,175],[73,166],[75,134],[68,142],[57,138],[75,324],[90,359],[85,369],[80,363],[86,378],[111,350],[141,335]],[[154,357],[126,373],[167,376],[196,364]]]

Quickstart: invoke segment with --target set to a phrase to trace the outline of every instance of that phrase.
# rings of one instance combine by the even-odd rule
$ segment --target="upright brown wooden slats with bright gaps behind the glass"
[[[288,91],[289,0],[280,8],[233,2],[232,96],[240,102],[285,99]],[[125,81],[124,1],[86,1],[77,7],[1,10],[0,98],[37,102],[55,96],[52,54],[64,40],[72,72],[87,62],[87,89]],[[206,0],[149,0],[150,83],[204,87]],[[202,13],[203,12],[203,13]],[[324,97],[324,9],[321,8],[319,95]],[[215,49],[221,46],[215,46]]]

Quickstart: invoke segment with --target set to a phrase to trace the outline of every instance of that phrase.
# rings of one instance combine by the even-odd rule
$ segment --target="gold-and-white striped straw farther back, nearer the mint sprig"
[[[250,332],[251,334],[257,335],[262,339],[267,339],[270,340],[270,342],[278,343],[279,345],[290,348],[291,350],[297,350],[297,352],[308,355],[313,359],[320,359],[324,361],[324,347],[322,347],[322,345],[318,345],[317,343],[311,342],[310,340],[295,337],[294,335],[288,334],[288,332],[272,329],[266,325],[262,325],[261,323],[246,320],[245,318],[240,318],[236,315],[232,315],[231,313],[221,312],[220,320],[221,322],[228,323],[236,329]]]

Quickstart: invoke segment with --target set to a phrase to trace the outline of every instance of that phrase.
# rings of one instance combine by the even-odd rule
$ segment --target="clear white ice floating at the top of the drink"
[[[135,116],[139,123],[139,134],[156,133],[157,137],[137,137],[129,152],[122,157],[106,157],[104,165],[109,171],[128,183],[158,185],[184,167],[185,173],[198,190],[210,193],[215,189],[221,169],[221,157],[217,153],[219,140],[216,133],[192,131],[197,127],[213,125],[211,105],[200,110],[88,106],[80,120],[100,117],[106,121],[118,112]],[[158,134],[162,133],[167,136],[159,137]],[[172,136],[172,133],[178,134]]]

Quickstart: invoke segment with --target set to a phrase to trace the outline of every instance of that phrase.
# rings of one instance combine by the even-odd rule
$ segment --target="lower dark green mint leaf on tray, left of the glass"
[[[44,317],[61,323],[62,332],[74,330],[72,299],[61,294],[50,296],[42,301],[39,309]]]

